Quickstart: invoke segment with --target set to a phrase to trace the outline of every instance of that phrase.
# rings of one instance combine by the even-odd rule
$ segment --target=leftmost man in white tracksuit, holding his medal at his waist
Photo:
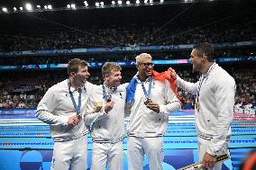
[[[87,169],[88,128],[82,121],[90,85],[87,62],[78,58],[68,65],[69,78],[53,85],[38,104],[36,116],[50,124],[54,140],[51,170]]]

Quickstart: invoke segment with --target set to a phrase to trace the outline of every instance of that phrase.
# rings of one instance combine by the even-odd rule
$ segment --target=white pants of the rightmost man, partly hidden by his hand
[[[201,139],[197,137],[197,147],[198,147],[198,152],[199,152],[199,159],[200,161],[203,160],[203,157],[206,154],[206,148],[209,145],[209,140],[206,139]],[[223,148],[222,153],[228,153],[228,147],[227,147],[227,143],[226,146]],[[223,166],[223,162],[220,163],[216,163],[214,167],[212,168],[208,168],[208,170],[221,170]]]

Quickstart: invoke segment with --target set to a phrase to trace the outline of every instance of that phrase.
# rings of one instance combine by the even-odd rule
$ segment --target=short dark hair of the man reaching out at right
[[[199,55],[206,55],[206,58],[210,62],[215,61],[215,49],[211,46],[208,42],[203,42],[200,44],[197,44],[193,47],[193,49],[197,49],[197,52]]]

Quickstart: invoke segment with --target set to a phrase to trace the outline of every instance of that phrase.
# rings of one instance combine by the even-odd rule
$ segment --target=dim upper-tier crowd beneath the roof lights
[[[192,20],[193,18],[189,18]],[[256,20],[242,18],[242,21],[211,24],[208,27],[187,25],[178,28],[151,25],[111,25],[85,29],[49,28],[0,31],[0,51],[82,49],[97,47],[136,47],[146,45],[195,44],[238,42],[256,40]]]

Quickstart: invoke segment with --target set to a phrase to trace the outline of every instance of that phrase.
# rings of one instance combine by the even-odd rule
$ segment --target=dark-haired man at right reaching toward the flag
[[[193,69],[202,74],[199,81],[184,81],[170,68],[171,75],[177,77],[179,87],[197,94],[197,145],[203,168],[221,170],[222,163],[215,164],[215,157],[228,153],[235,82],[232,76],[215,63],[214,49],[209,43],[196,45],[190,56]]]

